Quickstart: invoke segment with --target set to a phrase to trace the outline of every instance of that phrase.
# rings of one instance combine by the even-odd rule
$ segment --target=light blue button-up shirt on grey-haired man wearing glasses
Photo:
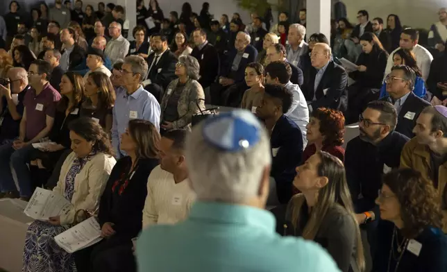
[[[160,130],[160,104],[155,96],[144,90],[142,85],[133,94],[128,95],[124,87],[117,90],[117,100],[113,107],[112,145],[117,158],[126,155],[119,148],[121,134],[127,128],[130,119],[144,119]]]

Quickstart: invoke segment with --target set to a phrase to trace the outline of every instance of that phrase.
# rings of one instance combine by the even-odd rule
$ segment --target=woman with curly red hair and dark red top
[[[318,151],[326,151],[344,162],[344,116],[338,110],[318,108],[310,115],[306,126],[307,141],[303,152],[304,163]]]

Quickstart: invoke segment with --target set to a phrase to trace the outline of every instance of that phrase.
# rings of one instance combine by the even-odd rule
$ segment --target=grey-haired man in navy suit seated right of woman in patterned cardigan
[[[258,51],[250,44],[251,37],[247,33],[237,33],[235,49],[228,53],[227,62],[223,60],[223,67],[219,75],[219,84],[210,88],[211,103],[223,105],[233,99],[242,100],[244,91],[248,89],[245,83],[245,68],[255,62]],[[241,94],[242,92],[242,94]],[[240,104],[237,103],[237,105]]]

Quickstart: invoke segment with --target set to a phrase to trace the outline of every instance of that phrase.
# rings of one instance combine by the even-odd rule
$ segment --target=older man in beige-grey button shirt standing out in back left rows
[[[124,59],[129,51],[130,42],[121,35],[122,26],[118,22],[112,22],[109,25],[109,34],[112,39],[107,43],[106,56],[110,58],[112,64],[119,58]]]

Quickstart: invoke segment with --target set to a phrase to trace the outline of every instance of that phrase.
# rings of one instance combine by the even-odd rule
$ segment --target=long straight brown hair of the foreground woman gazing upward
[[[362,237],[360,235],[360,228],[357,220],[355,219],[355,212],[353,202],[351,199],[351,193],[349,192],[348,183],[346,182],[346,172],[343,162],[333,155],[327,152],[317,152],[321,158],[321,163],[318,167],[318,175],[327,177],[328,184],[321,188],[317,196],[317,204],[312,207],[310,212],[310,219],[303,230],[303,238],[308,240],[314,240],[317,233],[323,223],[323,219],[330,207],[333,205],[340,205],[344,207],[348,214],[351,215],[353,222],[355,223],[355,236],[357,238],[356,246],[356,262],[360,271],[365,269],[365,260],[363,253]],[[301,207],[305,201],[302,194],[298,194],[292,198],[292,224],[294,228],[300,226],[301,219]]]

